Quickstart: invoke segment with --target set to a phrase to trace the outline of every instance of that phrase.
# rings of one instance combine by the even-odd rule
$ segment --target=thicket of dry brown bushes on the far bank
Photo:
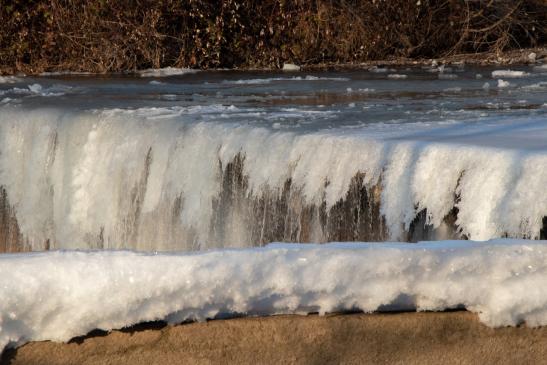
[[[546,0],[0,0],[5,72],[430,58],[546,39]]]

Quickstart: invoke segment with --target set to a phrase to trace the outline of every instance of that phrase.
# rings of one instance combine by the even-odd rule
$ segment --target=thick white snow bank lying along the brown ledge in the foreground
[[[225,314],[464,306],[488,326],[547,324],[547,242],[274,244],[205,253],[0,255],[0,348]]]

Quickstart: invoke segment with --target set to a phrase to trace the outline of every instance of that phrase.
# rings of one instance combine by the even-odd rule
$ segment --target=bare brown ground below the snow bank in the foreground
[[[528,364],[547,327],[491,329],[461,312],[275,316],[148,325],[71,343],[33,342],[4,364]]]

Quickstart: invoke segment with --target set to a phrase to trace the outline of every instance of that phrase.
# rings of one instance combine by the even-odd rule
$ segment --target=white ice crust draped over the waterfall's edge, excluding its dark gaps
[[[184,204],[173,224],[196,232],[194,248],[211,247],[219,164],[227,166],[237,154],[246,156],[249,194],[265,189],[280,194],[290,178],[307,203],[325,202],[327,208],[364,173],[366,186],[381,184],[381,213],[391,240],[401,239],[422,209],[428,223],[440,227],[456,205],[457,225],[474,240],[539,238],[547,216],[542,117],[435,127],[379,123],[299,134],[195,122],[196,114],[212,111],[239,112],[222,105],[96,112],[4,106],[0,185],[26,240],[38,249],[44,237],[53,237],[56,248],[89,248],[94,246],[88,235],[101,232],[103,247],[127,248],[119,244],[128,241],[123,227],[134,209],[132,194],[145,183],[140,214],[149,219],[140,229],[147,233],[142,237],[155,240],[139,236],[129,248],[183,249],[161,246],[169,227],[154,223],[154,217],[172,214],[171,204],[180,196]],[[235,222],[232,229],[247,228]],[[232,244],[244,245],[236,239]]]

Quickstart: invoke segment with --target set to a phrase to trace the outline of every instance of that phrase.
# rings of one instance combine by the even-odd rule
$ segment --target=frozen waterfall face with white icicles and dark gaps
[[[4,106],[0,250],[545,232],[542,149],[298,134],[194,112]]]

